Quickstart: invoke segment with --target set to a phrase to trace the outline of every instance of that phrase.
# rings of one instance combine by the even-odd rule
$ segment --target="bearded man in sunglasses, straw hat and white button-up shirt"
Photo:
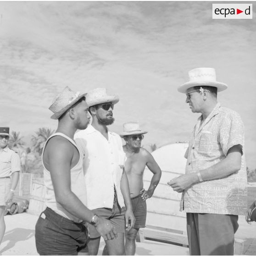
[[[89,91],[86,102],[93,117],[92,124],[75,134],[78,148],[84,155],[87,206],[95,214],[110,220],[118,234],[117,238],[106,241],[104,253],[109,255],[125,255],[124,232],[130,230],[135,221],[124,172],[122,139],[107,128],[114,122],[113,108],[118,101],[118,96],[107,95],[105,88]],[[91,225],[89,234],[89,255],[97,255],[100,234]]]

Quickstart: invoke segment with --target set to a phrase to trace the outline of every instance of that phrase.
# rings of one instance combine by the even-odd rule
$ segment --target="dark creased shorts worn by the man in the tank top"
[[[75,223],[47,207],[35,226],[36,249],[39,255],[78,255],[87,243],[83,223]]]

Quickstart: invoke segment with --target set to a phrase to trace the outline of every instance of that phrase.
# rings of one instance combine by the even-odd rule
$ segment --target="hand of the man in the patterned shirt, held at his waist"
[[[173,178],[172,180],[167,182],[167,184],[170,185],[174,191],[181,193],[184,191],[184,189],[188,189],[192,184],[194,184],[197,181],[198,181],[197,174],[192,173],[192,174],[180,175],[177,178]]]

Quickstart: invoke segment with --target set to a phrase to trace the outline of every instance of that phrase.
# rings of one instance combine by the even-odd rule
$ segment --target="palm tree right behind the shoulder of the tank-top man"
[[[54,130],[51,130],[50,128],[39,128],[37,132],[35,132],[36,136],[32,136],[32,150],[34,152],[38,152],[39,155],[42,154],[45,141],[50,137],[51,134],[54,133]]]

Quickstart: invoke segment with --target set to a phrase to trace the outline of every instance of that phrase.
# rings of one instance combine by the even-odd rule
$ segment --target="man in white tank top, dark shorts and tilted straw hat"
[[[110,221],[85,206],[83,161],[73,140],[76,130],[89,124],[85,95],[66,87],[49,107],[54,113],[51,118],[58,119],[58,128],[42,154],[47,208],[35,227],[40,255],[78,255],[87,242],[84,222],[94,225],[105,240],[117,237]]]

